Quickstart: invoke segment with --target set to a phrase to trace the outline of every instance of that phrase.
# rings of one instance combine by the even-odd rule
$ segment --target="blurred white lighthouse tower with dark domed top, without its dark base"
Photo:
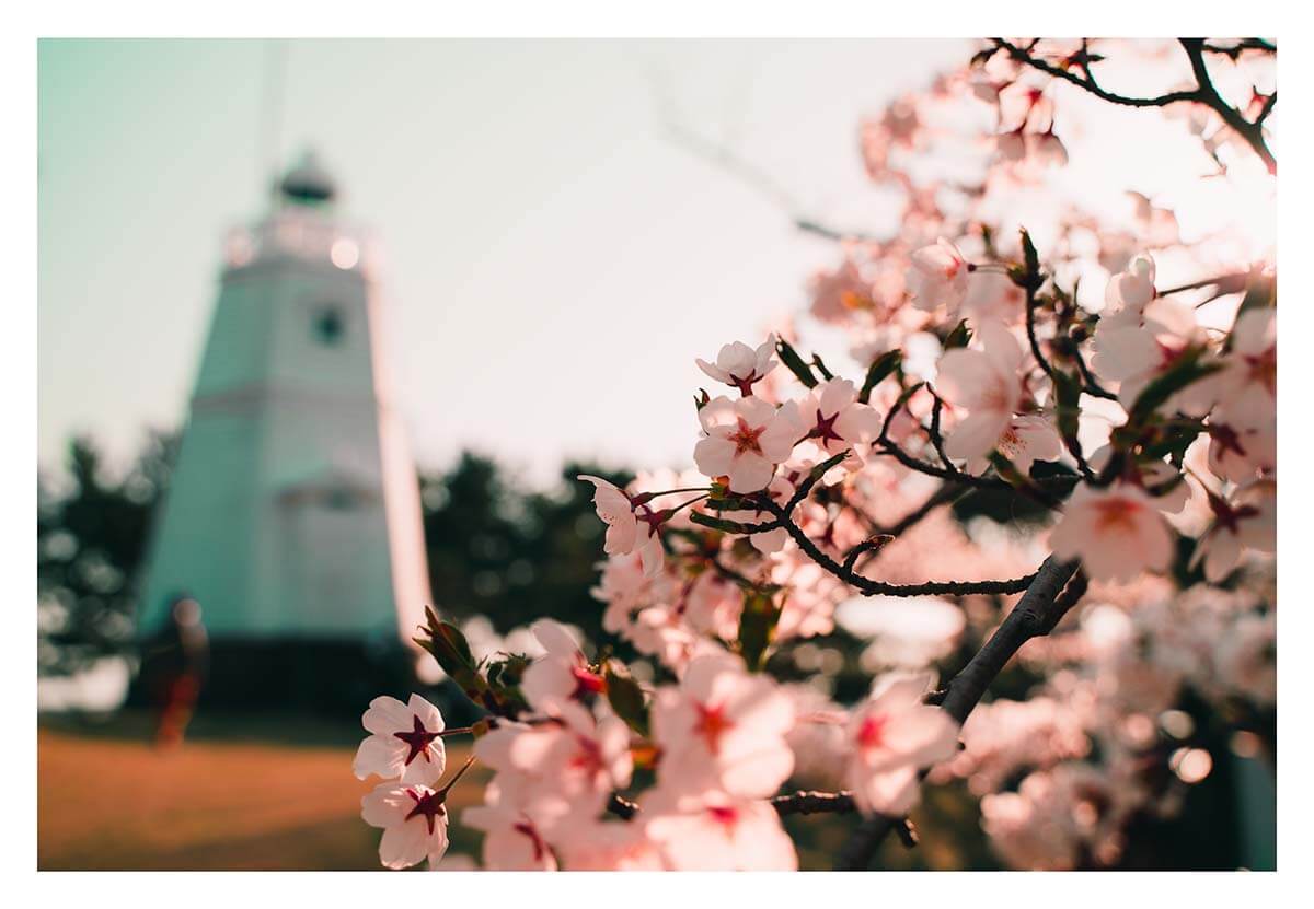
[[[419,489],[360,233],[314,156],[234,234],[143,586],[185,592],[215,649],[398,644],[428,599]]]

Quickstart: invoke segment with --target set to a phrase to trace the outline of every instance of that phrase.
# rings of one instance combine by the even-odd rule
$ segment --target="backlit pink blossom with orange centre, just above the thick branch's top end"
[[[1058,558],[1080,558],[1087,574],[1102,581],[1164,571],[1173,553],[1172,535],[1155,502],[1127,483],[1079,486],[1050,532],[1050,546]]]

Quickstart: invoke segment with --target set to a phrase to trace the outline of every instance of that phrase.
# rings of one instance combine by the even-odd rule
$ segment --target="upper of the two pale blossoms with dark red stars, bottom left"
[[[373,774],[401,778],[406,786],[427,786],[443,775],[447,767],[443,715],[419,695],[413,694],[407,704],[386,695],[376,698],[369,701],[361,724],[371,736],[356,750],[352,763],[356,779]]]

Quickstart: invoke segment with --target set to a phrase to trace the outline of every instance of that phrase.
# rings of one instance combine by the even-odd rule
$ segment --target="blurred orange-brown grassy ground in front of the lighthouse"
[[[361,736],[364,732],[360,733]],[[279,717],[197,717],[171,751],[148,717],[38,729],[37,864],[41,870],[378,868],[378,830],[360,796],[378,780],[351,772],[353,724]],[[468,750],[455,745],[455,770]],[[473,779],[472,779],[473,776]],[[452,807],[481,800],[473,774]],[[453,829],[453,851],[474,850]]]

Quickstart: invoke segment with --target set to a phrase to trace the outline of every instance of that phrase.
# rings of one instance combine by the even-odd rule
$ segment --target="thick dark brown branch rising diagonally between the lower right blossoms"
[[[1046,558],[1026,594],[991,634],[986,646],[946,686],[941,709],[947,711],[959,724],[964,722],[1004,665],[1033,637],[1049,634],[1085,592],[1085,575],[1077,571],[1076,562],[1059,562],[1053,556]],[[904,820],[875,814],[863,821],[845,843],[836,868],[867,868],[884,838]]]

